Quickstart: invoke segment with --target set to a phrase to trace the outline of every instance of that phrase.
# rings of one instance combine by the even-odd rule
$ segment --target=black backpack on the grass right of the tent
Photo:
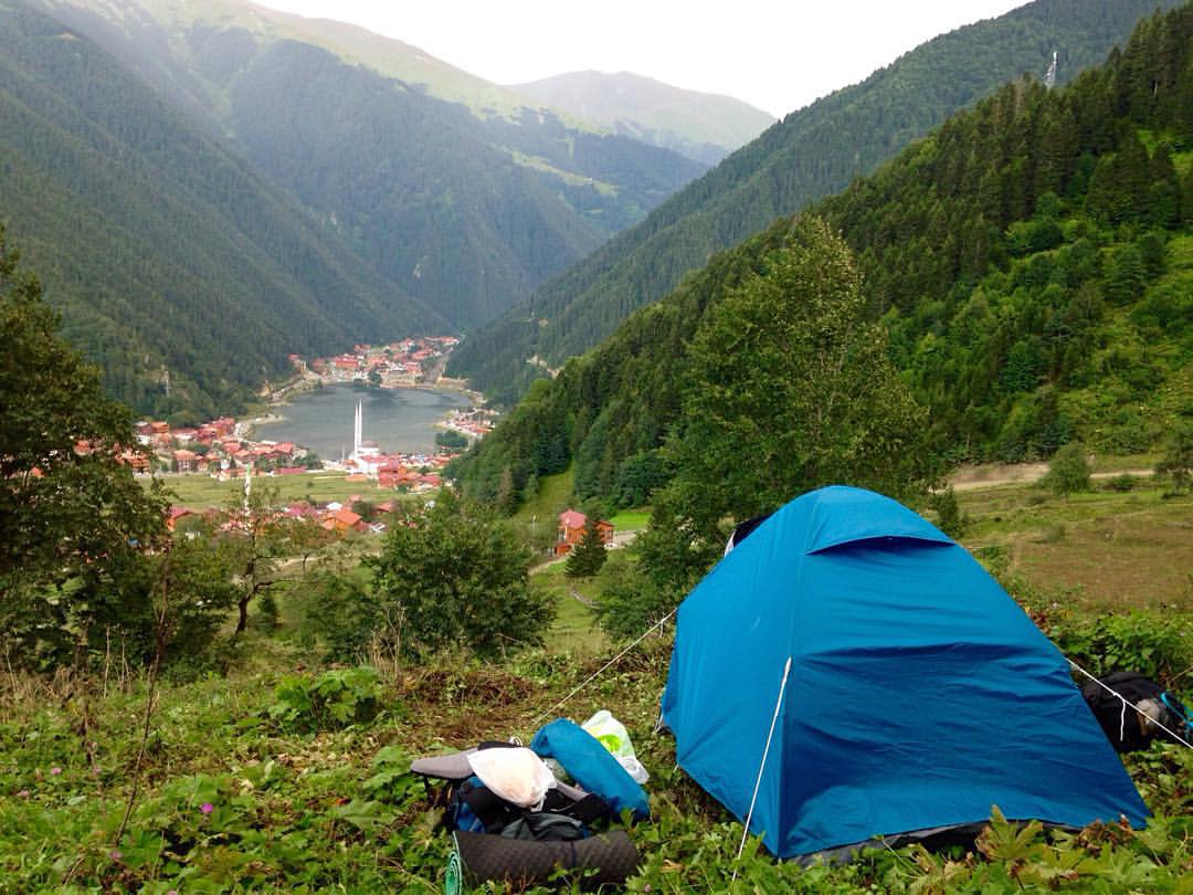
[[[1115,672],[1090,680],[1081,695],[1118,752],[1144,749],[1156,737],[1173,740],[1163,728],[1185,739],[1193,733],[1188,710],[1180,699],[1139,672]],[[1123,699],[1130,705],[1124,705]]]

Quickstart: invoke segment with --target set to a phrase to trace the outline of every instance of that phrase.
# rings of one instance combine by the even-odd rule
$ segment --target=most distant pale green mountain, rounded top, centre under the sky
[[[774,124],[771,115],[740,99],[680,90],[632,72],[570,72],[509,88],[709,165]]]

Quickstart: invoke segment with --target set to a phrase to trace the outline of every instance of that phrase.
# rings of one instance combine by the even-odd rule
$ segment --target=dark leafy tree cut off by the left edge
[[[122,461],[130,411],[57,326],[0,229],[0,640],[47,663],[87,647],[113,570],[163,543],[167,506]]]

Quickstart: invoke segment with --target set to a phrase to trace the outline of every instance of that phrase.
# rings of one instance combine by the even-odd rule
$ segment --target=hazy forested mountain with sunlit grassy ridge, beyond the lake
[[[457,327],[493,319],[706,167],[350,25],[247,0],[41,2]]]

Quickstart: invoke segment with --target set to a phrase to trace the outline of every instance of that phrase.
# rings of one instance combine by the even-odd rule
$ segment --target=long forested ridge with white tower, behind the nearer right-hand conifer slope
[[[789,115],[663,203],[637,227],[472,335],[452,371],[499,401],[524,393],[674,289],[711,255],[780,215],[843,189],[951,112],[1024,73],[1058,82],[1101,62],[1141,16],[1176,0],[1036,0],[937,37]],[[534,359],[537,363],[527,363]]]

